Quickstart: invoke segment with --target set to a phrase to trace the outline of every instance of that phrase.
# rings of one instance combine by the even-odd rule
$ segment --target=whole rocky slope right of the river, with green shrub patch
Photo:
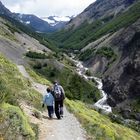
[[[82,51],[88,50],[93,53],[85,65],[92,73],[102,75],[108,103],[124,117],[140,120],[140,19],[90,43]]]

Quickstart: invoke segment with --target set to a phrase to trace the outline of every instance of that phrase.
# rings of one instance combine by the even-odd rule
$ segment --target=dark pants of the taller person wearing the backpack
[[[63,115],[63,100],[55,101],[55,115],[58,119]]]

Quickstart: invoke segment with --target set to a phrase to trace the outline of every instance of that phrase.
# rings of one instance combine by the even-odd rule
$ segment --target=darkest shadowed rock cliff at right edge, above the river
[[[126,99],[140,97],[140,20],[122,30],[112,45],[118,46],[120,59],[105,73],[103,82],[109,94],[108,103],[115,106]]]

